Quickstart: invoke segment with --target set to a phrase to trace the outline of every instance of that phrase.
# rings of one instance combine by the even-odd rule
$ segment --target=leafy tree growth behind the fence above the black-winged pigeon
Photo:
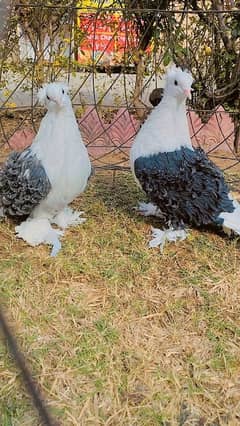
[[[143,106],[141,94],[146,74],[146,50],[153,44],[158,58],[155,68],[160,74],[170,61],[192,71],[196,107],[212,110],[221,103],[226,109],[239,112],[239,1],[125,0],[120,4],[125,19],[135,23],[138,35],[133,94],[137,108]],[[143,113],[138,115],[141,117]],[[235,118],[238,138],[239,115]]]

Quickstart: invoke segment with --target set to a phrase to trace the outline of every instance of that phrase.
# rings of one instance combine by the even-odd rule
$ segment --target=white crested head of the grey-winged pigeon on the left
[[[38,100],[49,111],[58,111],[71,104],[69,89],[65,83],[45,84],[38,92]]]

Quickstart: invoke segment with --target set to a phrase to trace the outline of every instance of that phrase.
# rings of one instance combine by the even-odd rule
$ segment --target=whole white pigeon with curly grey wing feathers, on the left
[[[13,152],[0,170],[0,208],[4,216],[22,220],[17,236],[31,245],[61,247],[65,229],[84,221],[68,204],[86,188],[91,174],[87,149],[64,83],[43,86],[38,99],[47,108],[32,145]]]

